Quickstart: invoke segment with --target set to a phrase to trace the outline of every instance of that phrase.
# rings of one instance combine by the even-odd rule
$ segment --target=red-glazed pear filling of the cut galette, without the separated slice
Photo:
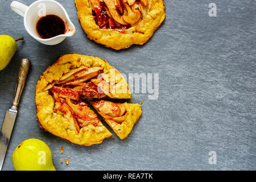
[[[84,102],[88,97],[107,98],[106,94],[99,92],[98,86],[90,81],[97,80],[94,77],[100,72],[98,67],[81,69],[67,73],[59,81],[49,84],[53,85],[49,93],[55,101],[55,112],[69,119],[72,123],[71,129],[76,133],[79,133],[82,127],[97,126],[100,123],[97,115]]]

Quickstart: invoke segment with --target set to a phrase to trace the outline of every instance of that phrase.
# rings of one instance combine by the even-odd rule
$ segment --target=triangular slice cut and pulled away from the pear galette
[[[121,104],[104,100],[92,101],[91,104],[120,139],[131,133],[142,114],[139,104]]]

